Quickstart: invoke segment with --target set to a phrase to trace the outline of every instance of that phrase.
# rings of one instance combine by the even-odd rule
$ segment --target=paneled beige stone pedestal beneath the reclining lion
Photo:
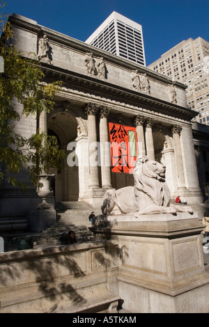
[[[118,294],[130,313],[208,313],[204,269],[194,213],[95,217],[95,240],[118,244]]]

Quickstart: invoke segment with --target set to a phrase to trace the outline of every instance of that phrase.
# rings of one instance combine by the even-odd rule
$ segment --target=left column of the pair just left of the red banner
[[[88,166],[89,166],[89,182],[88,189],[100,188],[99,170],[98,170],[98,147],[95,114],[98,107],[89,103],[86,108],[88,115]]]

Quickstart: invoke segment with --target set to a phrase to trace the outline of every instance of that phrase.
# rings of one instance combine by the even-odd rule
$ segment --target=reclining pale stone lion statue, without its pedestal
[[[162,163],[137,157],[134,166],[134,186],[109,189],[102,202],[102,214],[175,214],[189,212],[191,207],[171,205],[171,195],[165,182],[166,168]]]

